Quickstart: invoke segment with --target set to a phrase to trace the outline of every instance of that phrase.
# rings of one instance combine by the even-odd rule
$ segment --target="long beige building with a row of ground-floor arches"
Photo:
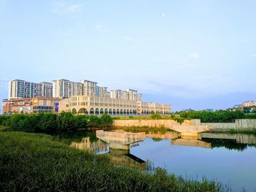
[[[106,98],[101,96],[71,96],[59,101],[59,112],[102,115],[170,114],[170,105]]]

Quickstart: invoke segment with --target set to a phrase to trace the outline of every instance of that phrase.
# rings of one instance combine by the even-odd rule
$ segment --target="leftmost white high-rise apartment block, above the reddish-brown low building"
[[[9,82],[8,98],[32,98],[35,96],[52,97],[53,85],[50,82],[27,82],[24,80],[11,80]]]

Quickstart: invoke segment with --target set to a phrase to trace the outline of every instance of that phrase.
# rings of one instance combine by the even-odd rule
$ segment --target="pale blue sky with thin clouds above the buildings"
[[[92,80],[173,111],[256,100],[256,0],[0,0],[7,81]]]

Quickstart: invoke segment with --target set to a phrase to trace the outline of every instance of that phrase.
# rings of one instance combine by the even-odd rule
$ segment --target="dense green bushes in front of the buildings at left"
[[[113,125],[110,115],[72,115],[70,112],[0,115],[0,126],[16,131],[56,132],[79,128],[108,128]]]

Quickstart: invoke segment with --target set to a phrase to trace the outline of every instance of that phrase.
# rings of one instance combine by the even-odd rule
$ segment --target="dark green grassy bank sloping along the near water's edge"
[[[70,148],[46,134],[0,131],[1,191],[222,191],[189,181],[114,166],[108,158]]]

